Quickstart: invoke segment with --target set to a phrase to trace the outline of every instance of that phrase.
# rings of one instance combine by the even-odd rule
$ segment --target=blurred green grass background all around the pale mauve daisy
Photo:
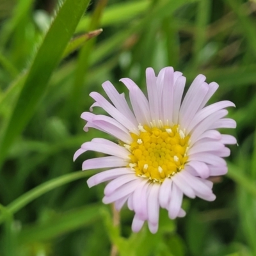
[[[255,256],[256,1],[89,2],[0,0],[0,255]],[[156,235],[131,234],[133,212],[113,223],[104,185],[88,189],[95,171],[81,164],[97,154],[72,161],[106,136],[83,132],[79,116],[104,81],[145,90],[145,68],[170,65],[187,86],[197,74],[220,84],[211,102],[236,104],[237,129],[225,132],[239,147],[214,178],[214,202],[185,198],[185,218],[161,211]]]

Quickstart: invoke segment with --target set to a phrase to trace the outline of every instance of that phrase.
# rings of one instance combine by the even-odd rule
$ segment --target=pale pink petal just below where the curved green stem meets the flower
[[[133,173],[131,168],[116,168],[104,172],[97,173],[90,177],[87,180],[87,184],[89,188],[92,188],[93,186],[96,186],[104,181],[108,181],[111,179],[115,179],[116,177]]]

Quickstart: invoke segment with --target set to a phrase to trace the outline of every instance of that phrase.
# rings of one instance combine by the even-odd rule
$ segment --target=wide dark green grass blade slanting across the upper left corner
[[[2,134],[0,164],[3,163],[13,140],[22,132],[35,112],[38,101],[42,99],[47,89],[51,74],[61,60],[63,51],[88,3],[89,0],[66,0],[53,20],[42,45],[38,49],[17,104]],[[72,15],[72,19],[70,19],[70,15]]]

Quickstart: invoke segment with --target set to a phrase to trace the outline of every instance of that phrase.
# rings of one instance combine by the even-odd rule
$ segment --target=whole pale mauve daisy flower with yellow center
[[[99,93],[90,93],[95,100],[92,108],[100,107],[112,117],[84,112],[84,131],[92,127],[118,141],[85,142],[74,159],[88,150],[108,154],[83,162],[83,170],[109,168],[88,179],[88,186],[108,181],[104,204],[115,203],[118,211],[127,204],[135,212],[132,230],[138,232],[147,221],[150,232],[156,233],[159,207],[175,219],[186,214],[183,195],[216,198],[208,178],[227,173],[222,157],[230,150],[225,145],[236,144],[236,138],[216,129],[236,127],[234,120],[224,118],[225,108],[235,105],[224,100],[205,107],[218,84],[205,83],[203,75],[195,78],[183,100],[186,78],[172,67],[163,68],[157,77],[147,68],[146,79],[147,97],[131,79],[120,80],[129,90],[132,109],[109,81],[102,87],[112,104]]]

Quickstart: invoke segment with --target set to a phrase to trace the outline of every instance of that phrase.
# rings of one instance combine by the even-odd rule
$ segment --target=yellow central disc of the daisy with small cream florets
[[[139,129],[139,135],[131,133],[131,145],[124,145],[131,151],[129,166],[136,175],[161,183],[184,168],[188,161],[189,136],[179,125],[162,128],[139,125]]]

